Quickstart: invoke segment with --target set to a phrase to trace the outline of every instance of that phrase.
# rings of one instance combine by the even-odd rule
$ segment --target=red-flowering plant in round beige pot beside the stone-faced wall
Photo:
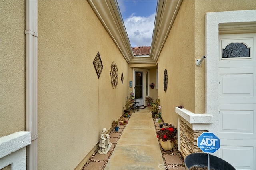
[[[170,124],[156,132],[156,137],[160,140],[161,147],[164,151],[172,151],[174,141],[176,140],[177,128]]]

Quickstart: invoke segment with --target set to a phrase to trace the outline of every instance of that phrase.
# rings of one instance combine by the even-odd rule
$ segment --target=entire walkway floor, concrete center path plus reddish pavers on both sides
[[[149,110],[146,107],[132,112],[131,117],[126,118],[126,126],[110,132],[112,148],[108,154],[98,154],[96,150],[82,170],[185,170],[176,145],[173,152],[161,149],[156,138],[156,130],[160,128]]]

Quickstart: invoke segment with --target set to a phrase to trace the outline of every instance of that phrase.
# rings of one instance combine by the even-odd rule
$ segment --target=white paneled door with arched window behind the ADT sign
[[[220,158],[256,169],[256,34],[219,36]]]

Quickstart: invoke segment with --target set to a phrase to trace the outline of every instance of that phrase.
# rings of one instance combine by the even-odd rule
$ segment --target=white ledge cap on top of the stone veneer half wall
[[[189,110],[186,110],[184,108],[180,109],[179,107],[175,107],[176,113],[180,115],[182,118],[184,118],[188,123],[190,124],[211,124],[213,123],[213,117],[210,114],[196,114],[192,113]]]

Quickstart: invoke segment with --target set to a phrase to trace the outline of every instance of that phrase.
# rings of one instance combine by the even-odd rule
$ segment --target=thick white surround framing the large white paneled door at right
[[[216,93],[218,92],[219,24],[256,22],[255,13],[256,10],[240,10],[209,12],[205,16],[205,113],[213,116],[214,123],[210,124],[207,130],[216,136],[219,135],[219,101]],[[219,156],[219,150],[214,155]],[[255,162],[254,168],[256,168]]]

